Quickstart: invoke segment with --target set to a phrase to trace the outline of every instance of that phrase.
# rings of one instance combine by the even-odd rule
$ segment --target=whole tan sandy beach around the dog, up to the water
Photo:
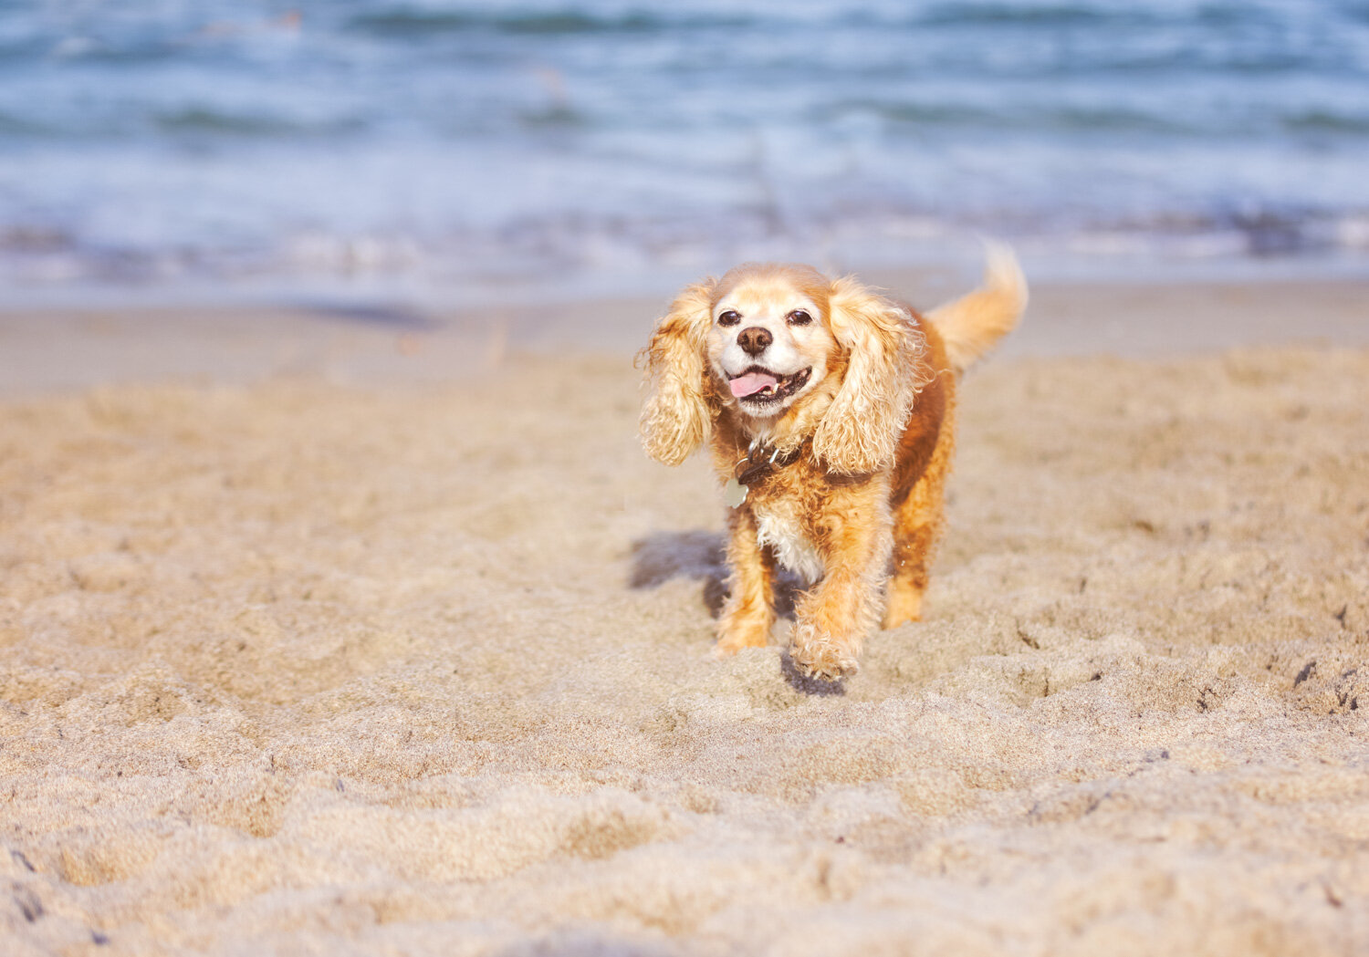
[[[1103,293],[971,377],[842,694],[709,659],[623,348],[0,322],[0,952],[1369,953],[1369,300]]]

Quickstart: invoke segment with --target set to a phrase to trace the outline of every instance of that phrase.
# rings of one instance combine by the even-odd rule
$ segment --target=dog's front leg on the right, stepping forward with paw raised
[[[809,675],[836,679],[856,672],[865,637],[879,622],[893,535],[887,522],[832,518],[823,524],[827,571],[794,609],[790,654]]]

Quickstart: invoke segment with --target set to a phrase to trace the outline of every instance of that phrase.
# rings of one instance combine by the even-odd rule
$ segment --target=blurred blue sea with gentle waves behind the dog
[[[639,289],[979,234],[1369,272],[1369,1],[0,0],[0,298]]]

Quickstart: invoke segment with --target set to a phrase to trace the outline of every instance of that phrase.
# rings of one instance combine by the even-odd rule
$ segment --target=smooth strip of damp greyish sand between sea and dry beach
[[[917,268],[861,275],[921,308],[975,281]],[[500,368],[523,353],[630,357],[674,292],[464,309],[338,298],[149,308],[0,305],[0,397],[119,382],[215,385],[282,377],[433,386]],[[1031,297],[1001,357],[1172,359],[1251,345],[1369,345],[1369,279],[1047,281],[1035,283]]]

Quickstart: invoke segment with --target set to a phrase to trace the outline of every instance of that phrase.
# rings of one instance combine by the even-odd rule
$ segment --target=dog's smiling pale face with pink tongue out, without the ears
[[[827,378],[836,349],[828,289],[793,266],[749,266],[719,282],[705,350],[742,413],[782,415]]]

